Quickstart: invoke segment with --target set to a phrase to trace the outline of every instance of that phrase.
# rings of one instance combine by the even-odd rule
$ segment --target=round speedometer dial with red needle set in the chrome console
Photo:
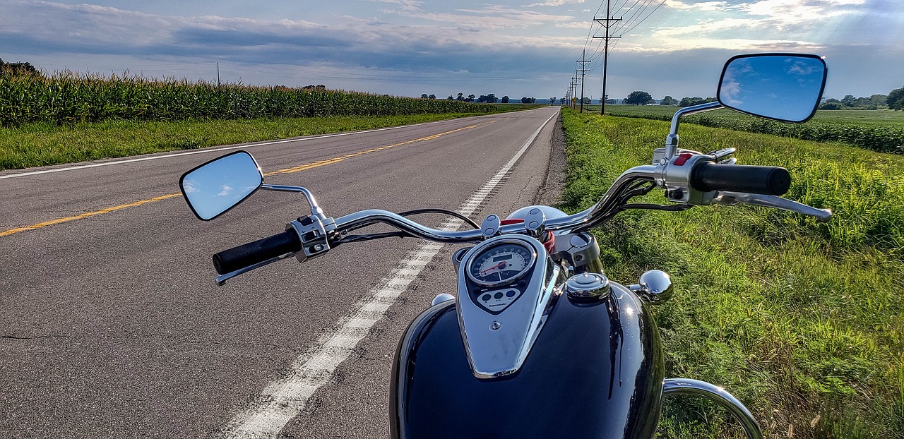
[[[486,286],[511,283],[531,269],[533,260],[531,248],[515,242],[502,242],[471,258],[467,276]]]

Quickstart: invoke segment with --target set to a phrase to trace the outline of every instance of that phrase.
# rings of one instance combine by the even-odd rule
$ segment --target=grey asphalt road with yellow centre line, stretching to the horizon
[[[292,170],[266,181],[306,186],[327,216],[455,210],[545,123],[472,215],[479,223],[535,200],[546,181],[556,111],[241,149],[265,173]],[[174,195],[178,178],[228,152],[217,149],[0,173],[0,437],[234,434],[235,416],[258,405],[299,358],[324,349],[325,333],[421,244],[392,238],[343,246],[304,265],[281,261],[217,286],[213,253],[308,213],[297,194],[259,191],[217,220],[196,220]],[[455,293],[455,249],[438,251],[280,436],[388,435],[396,344],[436,294]]]

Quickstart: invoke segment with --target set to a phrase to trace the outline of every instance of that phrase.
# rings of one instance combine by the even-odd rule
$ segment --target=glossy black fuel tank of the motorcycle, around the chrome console
[[[411,322],[396,352],[392,438],[648,438],[663,359],[645,305],[623,285],[584,303],[562,294],[517,372],[476,378],[456,301]]]

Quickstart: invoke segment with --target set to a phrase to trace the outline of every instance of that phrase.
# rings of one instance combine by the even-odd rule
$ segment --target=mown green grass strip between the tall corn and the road
[[[518,106],[526,108],[528,106]],[[504,107],[500,107],[504,108]],[[299,135],[399,126],[476,116],[473,113],[383,117],[283,117],[253,120],[115,121],[0,128],[0,170],[179,149],[232,145]]]

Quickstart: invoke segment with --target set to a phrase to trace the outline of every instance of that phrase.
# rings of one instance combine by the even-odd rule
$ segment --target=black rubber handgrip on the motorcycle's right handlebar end
[[[693,167],[691,186],[697,191],[734,191],[782,195],[791,187],[791,174],[777,166],[699,163]]]

